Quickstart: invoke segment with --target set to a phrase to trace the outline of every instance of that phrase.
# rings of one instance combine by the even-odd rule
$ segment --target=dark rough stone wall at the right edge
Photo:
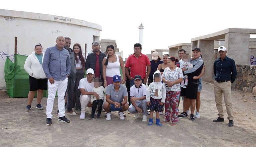
[[[256,65],[236,64],[237,78],[232,88],[256,95]]]

